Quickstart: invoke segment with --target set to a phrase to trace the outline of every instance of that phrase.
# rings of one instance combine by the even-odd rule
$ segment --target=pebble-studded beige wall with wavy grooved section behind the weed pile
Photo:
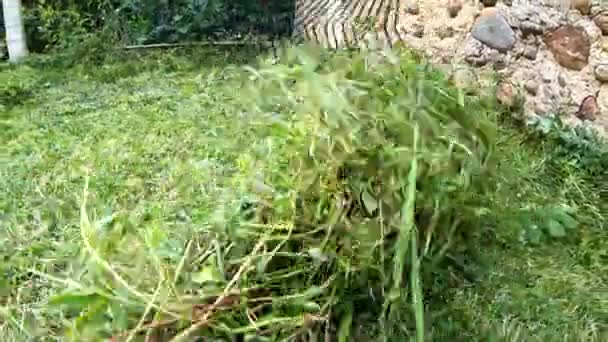
[[[298,0],[296,16],[315,1]],[[373,6],[356,11],[356,1],[335,2],[323,1],[315,20],[296,17],[296,30],[340,47],[357,43],[360,17],[372,18],[376,39],[425,52],[457,85],[497,72],[503,103],[519,98],[530,116],[563,114],[608,136],[608,0],[362,0]]]

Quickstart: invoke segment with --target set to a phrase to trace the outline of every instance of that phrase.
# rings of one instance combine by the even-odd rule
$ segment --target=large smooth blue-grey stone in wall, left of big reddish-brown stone
[[[507,52],[515,46],[515,32],[500,15],[480,17],[471,34],[475,39],[500,52]]]

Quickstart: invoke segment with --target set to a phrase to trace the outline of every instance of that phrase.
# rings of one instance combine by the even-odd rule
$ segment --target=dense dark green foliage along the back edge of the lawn
[[[69,47],[87,35],[127,44],[185,42],[250,33],[287,35],[292,1],[43,0],[24,1],[33,51]]]

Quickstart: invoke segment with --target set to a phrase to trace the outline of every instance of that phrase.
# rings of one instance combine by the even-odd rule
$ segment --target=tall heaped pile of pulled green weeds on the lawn
[[[260,217],[218,234],[238,246],[225,257],[257,262],[247,287],[293,298],[261,309],[290,322],[262,335],[348,339],[380,322],[367,338],[422,339],[427,297],[478,233],[492,101],[465,98],[406,50],[374,58],[292,49],[250,69],[243,120],[263,139],[241,158],[238,183]]]

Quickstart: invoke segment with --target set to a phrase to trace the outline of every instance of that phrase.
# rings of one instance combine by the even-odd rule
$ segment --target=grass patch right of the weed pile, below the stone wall
[[[488,260],[483,280],[455,290],[456,317],[477,327],[502,321],[503,330],[511,331],[507,340],[604,340],[606,198],[598,184],[605,180],[585,180],[584,172],[564,166],[571,160],[553,160],[553,144],[530,147],[518,133],[503,134],[499,153],[510,172],[495,200],[512,208],[566,203],[576,208],[579,226],[563,239],[528,244],[521,226],[509,227],[505,216],[502,225],[493,227],[496,243],[480,246]],[[572,173],[556,172],[553,163]],[[513,331],[520,332],[519,338]]]

